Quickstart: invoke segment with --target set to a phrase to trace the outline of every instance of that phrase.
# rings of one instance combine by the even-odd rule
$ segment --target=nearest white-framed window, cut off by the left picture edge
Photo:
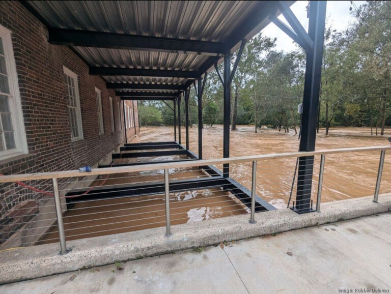
[[[0,25],[0,160],[28,153],[11,31]]]

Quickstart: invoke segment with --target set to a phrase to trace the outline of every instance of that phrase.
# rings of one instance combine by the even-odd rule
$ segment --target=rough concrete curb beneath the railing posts
[[[379,203],[372,199],[324,203],[321,213],[298,215],[289,209],[259,213],[256,224],[248,223],[249,215],[240,215],[175,225],[168,238],[161,227],[69,241],[72,251],[64,255],[59,255],[57,243],[5,251],[0,253],[0,284],[391,211],[391,195],[380,196]]]

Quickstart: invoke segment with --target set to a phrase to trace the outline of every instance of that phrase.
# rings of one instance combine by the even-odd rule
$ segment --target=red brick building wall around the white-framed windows
[[[18,84],[29,154],[0,161],[0,173],[30,173],[94,165],[124,141],[114,90],[66,46],[50,45],[46,27],[19,2],[0,3],[0,24],[12,32]],[[71,141],[63,66],[78,75],[83,140]],[[101,90],[104,134],[98,134],[95,86]],[[111,132],[109,96],[114,101],[115,132]],[[134,133],[133,133],[134,136]],[[0,218],[25,196],[0,186]],[[8,196],[7,196],[8,195]],[[0,221],[0,225],[2,222]],[[0,227],[0,231],[1,231]],[[0,243],[2,243],[0,241]]]

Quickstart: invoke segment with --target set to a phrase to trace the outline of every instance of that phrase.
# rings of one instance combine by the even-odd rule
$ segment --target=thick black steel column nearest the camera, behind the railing
[[[325,1],[311,1],[309,7],[309,36],[313,48],[306,50],[306,65],[303,94],[302,128],[299,151],[314,151],[322,70]],[[299,158],[297,194],[293,207],[298,213],[311,211],[311,189],[314,157]]]

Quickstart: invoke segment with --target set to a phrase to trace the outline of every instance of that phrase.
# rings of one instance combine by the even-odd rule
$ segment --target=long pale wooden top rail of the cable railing
[[[356,148],[339,148],[329,150],[318,150],[312,152],[291,152],[291,153],[277,153],[277,154],[264,154],[264,155],[253,155],[243,157],[231,157],[231,158],[219,158],[219,159],[207,159],[197,161],[182,161],[175,163],[151,163],[142,166],[118,166],[118,167],[107,167],[107,168],[94,168],[91,172],[80,173],[78,170],[64,170],[64,171],[51,171],[51,172],[40,172],[40,173],[26,173],[26,174],[13,174],[4,175],[0,177],[0,183],[17,182],[17,181],[32,181],[32,180],[45,180],[45,179],[59,179],[59,178],[71,178],[71,177],[86,177],[90,175],[103,175],[103,174],[115,174],[121,172],[137,172],[147,170],[159,170],[165,168],[181,168],[181,167],[194,167],[202,165],[216,165],[223,163],[243,163],[252,162],[266,159],[283,159],[283,158],[296,158],[302,156],[315,156],[321,154],[338,154],[338,153],[351,153],[351,152],[366,152],[366,151],[380,151],[380,150],[391,150],[391,146],[371,146],[371,147],[356,147]],[[380,156],[380,154],[379,154]]]

